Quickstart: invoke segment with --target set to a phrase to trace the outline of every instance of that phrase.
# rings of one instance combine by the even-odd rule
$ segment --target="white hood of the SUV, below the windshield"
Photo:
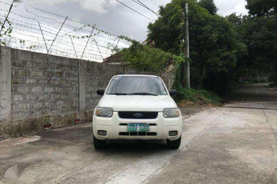
[[[104,95],[100,107],[111,107],[114,111],[163,111],[177,107],[169,95]]]

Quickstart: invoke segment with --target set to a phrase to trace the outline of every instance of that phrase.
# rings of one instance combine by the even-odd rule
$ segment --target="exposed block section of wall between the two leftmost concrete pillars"
[[[12,49],[11,119],[77,112],[78,62]]]

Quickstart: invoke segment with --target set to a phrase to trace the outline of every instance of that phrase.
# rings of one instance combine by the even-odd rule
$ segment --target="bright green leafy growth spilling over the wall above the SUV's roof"
[[[164,70],[173,63],[182,62],[182,56],[175,56],[161,49],[144,46],[133,41],[132,46],[118,50],[123,62],[144,71]]]

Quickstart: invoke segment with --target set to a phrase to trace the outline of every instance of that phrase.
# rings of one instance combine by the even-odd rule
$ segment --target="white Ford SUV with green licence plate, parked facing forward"
[[[93,114],[93,144],[104,148],[106,139],[166,139],[178,149],[181,143],[180,109],[160,77],[117,75],[112,77]]]

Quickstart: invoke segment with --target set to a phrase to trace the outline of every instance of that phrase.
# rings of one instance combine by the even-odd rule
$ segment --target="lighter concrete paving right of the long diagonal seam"
[[[208,111],[213,114],[218,110]],[[277,111],[226,108],[189,147],[175,155],[146,183],[276,184],[274,124],[277,124]]]

